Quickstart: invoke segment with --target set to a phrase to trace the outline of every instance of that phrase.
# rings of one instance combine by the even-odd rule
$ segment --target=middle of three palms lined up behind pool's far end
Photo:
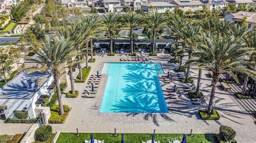
[[[138,27],[142,23],[142,16],[139,14],[130,12],[124,15],[123,23],[130,32],[131,53],[133,53],[133,31],[135,27]]]

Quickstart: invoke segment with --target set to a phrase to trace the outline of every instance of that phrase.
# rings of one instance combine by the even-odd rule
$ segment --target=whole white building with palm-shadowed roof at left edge
[[[46,95],[54,93],[54,76],[48,72],[21,72],[0,88],[0,105],[6,118],[16,118],[14,111],[28,111],[29,118],[36,118],[35,108],[40,107]]]

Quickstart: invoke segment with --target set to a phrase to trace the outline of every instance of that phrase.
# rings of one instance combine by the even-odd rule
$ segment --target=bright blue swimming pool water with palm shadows
[[[108,74],[100,112],[168,113],[157,74],[160,63],[105,63]]]

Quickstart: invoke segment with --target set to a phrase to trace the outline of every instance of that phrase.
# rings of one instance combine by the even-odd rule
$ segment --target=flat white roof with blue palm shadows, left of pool
[[[30,99],[51,76],[48,72],[23,71],[0,88],[0,99]]]

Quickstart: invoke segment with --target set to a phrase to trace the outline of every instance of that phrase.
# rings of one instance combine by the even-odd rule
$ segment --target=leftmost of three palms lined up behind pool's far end
[[[113,53],[113,33],[115,33],[116,29],[119,29],[121,24],[121,16],[117,13],[108,13],[107,15],[103,15],[103,23],[106,31],[110,34],[110,53]]]

